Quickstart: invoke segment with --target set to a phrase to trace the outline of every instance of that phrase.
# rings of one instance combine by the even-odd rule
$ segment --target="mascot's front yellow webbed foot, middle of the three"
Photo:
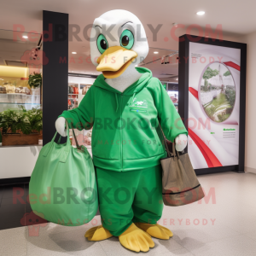
[[[148,252],[149,248],[154,247],[154,241],[143,230],[137,228],[135,224],[125,230],[123,234],[119,236],[121,245],[134,252]]]

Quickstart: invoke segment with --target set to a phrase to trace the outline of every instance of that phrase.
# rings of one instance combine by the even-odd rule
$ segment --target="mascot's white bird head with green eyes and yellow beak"
[[[115,9],[96,18],[90,32],[90,58],[106,79],[137,66],[148,55],[142,22],[126,10]]]

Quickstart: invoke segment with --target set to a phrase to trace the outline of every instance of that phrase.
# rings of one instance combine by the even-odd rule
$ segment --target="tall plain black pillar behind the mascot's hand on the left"
[[[67,110],[68,15],[43,11],[43,143],[55,134],[55,120]]]

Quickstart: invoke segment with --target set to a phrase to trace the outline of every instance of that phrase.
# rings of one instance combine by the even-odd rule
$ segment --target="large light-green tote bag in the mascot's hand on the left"
[[[55,137],[57,132],[55,133]],[[67,226],[90,222],[98,208],[96,172],[87,148],[73,148],[67,126],[67,143],[53,137],[40,151],[29,183],[32,211]]]

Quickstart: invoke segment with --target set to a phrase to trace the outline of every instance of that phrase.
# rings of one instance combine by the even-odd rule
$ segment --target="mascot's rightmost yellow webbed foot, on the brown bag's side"
[[[159,224],[148,224],[148,223],[137,222],[136,225],[138,228],[140,228],[141,230],[144,230],[150,236],[153,236],[155,238],[168,240],[170,237],[173,236],[171,230],[168,230]]]

